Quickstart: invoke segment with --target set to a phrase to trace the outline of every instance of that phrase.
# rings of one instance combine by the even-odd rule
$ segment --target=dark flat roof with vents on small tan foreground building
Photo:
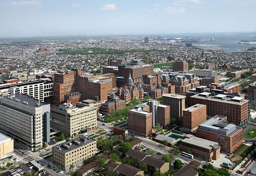
[[[74,144],[74,143],[72,142],[72,141],[74,141],[74,140],[80,142],[80,145]],[[85,140],[86,142],[84,143],[82,140]],[[71,142],[71,145],[69,145],[70,142]],[[70,152],[70,151],[72,151],[72,150],[76,150],[77,148],[80,148],[80,147],[82,147],[82,146],[86,146],[86,145],[88,145],[88,144],[90,144],[90,143],[92,143],[92,142],[96,142],[96,140],[91,139],[91,138],[89,138],[89,137],[80,137],[80,138],[74,138],[74,139],[72,139],[72,140],[70,140],[70,141],[68,141],[68,142],[64,142],[64,143],[62,143],[62,144],[60,144],[60,145],[54,146],[53,148],[55,148],[56,150],[60,150],[60,149],[61,149],[62,152],[66,153],[66,152]],[[64,144],[66,144],[66,145],[69,146],[70,148],[69,148],[69,149],[64,148],[64,147],[62,146],[62,145],[64,145]]]

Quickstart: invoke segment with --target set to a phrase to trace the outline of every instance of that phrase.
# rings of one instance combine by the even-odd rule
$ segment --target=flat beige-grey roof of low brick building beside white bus
[[[198,138],[198,137],[192,137],[192,138],[185,138],[182,140],[182,142],[185,142],[187,144],[192,144],[194,146],[199,146],[201,148],[206,148],[208,150],[211,150],[212,147],[210,145],[218,145],[218,142],[213,142],[210,140],[206,140],[206,139],[202,139],[202,138]]]

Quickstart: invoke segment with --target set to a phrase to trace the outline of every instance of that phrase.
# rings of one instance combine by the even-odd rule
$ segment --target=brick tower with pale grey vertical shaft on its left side
[[[170,106],[160,104],[157,100],[149,101],[148,106],[152,112],[152,127],[158,123],[163,127],[170,124]]]

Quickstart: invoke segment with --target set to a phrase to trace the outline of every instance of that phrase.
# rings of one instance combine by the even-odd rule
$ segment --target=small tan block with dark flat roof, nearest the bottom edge
[[[69,170],[70,165],[78,166],[96,153],[96,140],[89,137],[74,138],[52,147],[52,161],[63,170]]]

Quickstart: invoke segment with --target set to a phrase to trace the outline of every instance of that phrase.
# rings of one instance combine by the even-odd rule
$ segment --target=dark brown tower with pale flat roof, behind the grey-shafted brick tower
[[[185,98],[183,95],[163,94],[163,104],[170,106],[170,118],[178,119],[183,116]]]

